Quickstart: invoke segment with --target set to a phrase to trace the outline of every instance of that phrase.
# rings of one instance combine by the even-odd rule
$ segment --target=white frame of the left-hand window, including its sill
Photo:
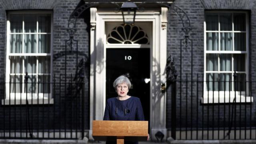
[[[16,34],[10,32],[10,14],[50,14],[51,15],[51,32],[38,32],[38,22],[36,24],[36,33],[24,33],[24,21],[22,24],[22,33],[17,34],[36,34],[36,53],[10,53],[10,34]],[[50,34],[50,54],[49,53],[38,53],[38,34]],[[22,36],[22,50],[24,50],[24,36]],[[14,105],[14,104],[53,104],[54,100],[52,98],[52,56],[53,54],[53,12],[49,10],[23,10],[23,11],[11,11],[7,14],[7,26],[6,26],[6,93],[5,99],[2,99],[2,105]],[[38,93],[38,88],[35,93],[10,93],[10,59],[9,56],[50,56],[50,93]],[[24,65],[24,62],[23,62]],[[36,62],[38,67],[38,60]],[[22,66],[24,68],[24,66]],[[38,76],[38,69],[36,69],[36,77]],[[22,83],[24,83],[24,75],[22,74]],[[39,74],[42,75],[42,74]],[[48,74],[44,74],[45,76]],[[18,76],[18,75],[17,75]],[[46,80],[48,82],[48,80]],[[38,77],[36,78],[38,82]],[[22,84],[22,90],[24,90],[24,84]],[[28,101],[27,101],[28,100]]]

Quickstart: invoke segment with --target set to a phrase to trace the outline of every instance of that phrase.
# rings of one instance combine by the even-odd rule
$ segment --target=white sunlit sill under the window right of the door
[[[249,103],[249,102],[253,102],[253,97],[250,96],[236,96],[236,100],[235,96],[226,96],[224,98],[224,96],[220,96],[220,97],[212,97],[212,96],[204,96],[204,98],[201,99],[202,104],[220,104],[220,103]]]

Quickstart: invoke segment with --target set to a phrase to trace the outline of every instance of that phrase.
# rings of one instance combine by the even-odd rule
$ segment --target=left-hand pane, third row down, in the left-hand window
[[[21,74],[22,73],[22,57],[21,56],[10,56],[10,73]]]

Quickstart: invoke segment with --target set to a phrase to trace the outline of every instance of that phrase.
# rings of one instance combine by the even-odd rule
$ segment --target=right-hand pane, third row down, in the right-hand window
[[[234,71],[245,72],[245,54],[234,54]]]

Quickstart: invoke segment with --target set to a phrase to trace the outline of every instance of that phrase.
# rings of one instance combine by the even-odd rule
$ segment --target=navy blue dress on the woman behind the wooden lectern
[[[144,120],[140,99],[134,96],[127,100],[109,98],[103,120]],[[116,144],[116,142],[107,141],[106,144]],[[138,142],[125,141],[124,144],[138,144]]]

